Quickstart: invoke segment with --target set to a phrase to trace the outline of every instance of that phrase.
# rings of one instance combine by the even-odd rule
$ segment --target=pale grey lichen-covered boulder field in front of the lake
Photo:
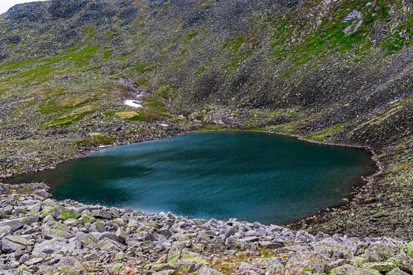
[[[413,242],[51,199],[0,184],[0,274],[412,274]]]

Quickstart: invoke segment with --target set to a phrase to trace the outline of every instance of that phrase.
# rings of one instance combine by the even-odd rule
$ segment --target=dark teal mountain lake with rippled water
[[[284,224],[342,203],[374,171],[367,150],[267,133],[193,133],[109,148],[14,182],[56,199]]]

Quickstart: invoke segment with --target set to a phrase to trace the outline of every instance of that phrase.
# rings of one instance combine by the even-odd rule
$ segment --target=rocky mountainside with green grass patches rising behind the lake
[[[412,8],[401,0],[17,5],[0,16],[1,169],[212,124],[372,146],[390,173],[378,182],[397,189],[395,177],[412,170]],[[397,211],[408,201],[402,189]]]

